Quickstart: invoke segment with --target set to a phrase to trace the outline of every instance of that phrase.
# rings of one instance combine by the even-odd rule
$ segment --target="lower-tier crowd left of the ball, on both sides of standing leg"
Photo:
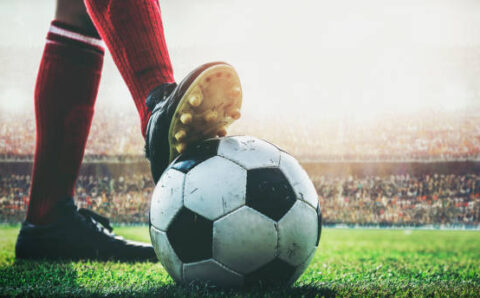
[[[153,187],[147,174],[118,178],[80,176],[75,186],[75,202],[79,208],[92,209],[115,222],[145,223]],[[0,176],[0,222],[24,219],[29,188],[28,175]]]

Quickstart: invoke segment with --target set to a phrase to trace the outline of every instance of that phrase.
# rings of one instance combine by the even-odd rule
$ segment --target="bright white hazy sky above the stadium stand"
[[[247,114],[368,118],[480,102],[478,0],[160,3],[177,80],[230,62]],[[54,4],[0,1],[0,111],[31,108]],[[112,103],[134,109],[107,57],[98,104]]]

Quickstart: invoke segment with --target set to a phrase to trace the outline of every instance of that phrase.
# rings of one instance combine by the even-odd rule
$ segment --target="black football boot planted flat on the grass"
[[[52,224],[22,223],[15,246],[17,259],[157,261],[151,245],[115,236],[108,219],[77,209],[72,198],[61,200],[55,208],[60,217]]]

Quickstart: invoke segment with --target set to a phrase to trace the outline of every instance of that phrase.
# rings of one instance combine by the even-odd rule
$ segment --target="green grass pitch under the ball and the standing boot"
[[[178,286],[160,264],[15,262],[19,226],[0,225],[0,296],[480,296],[480,232],[324,229],[290,288]],[[117,227],[149,241],[147,227]]]

